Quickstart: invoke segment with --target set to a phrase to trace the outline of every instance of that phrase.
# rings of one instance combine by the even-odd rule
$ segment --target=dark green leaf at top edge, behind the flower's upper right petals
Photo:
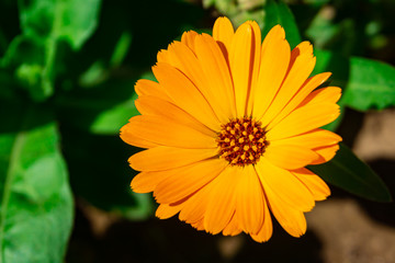
[[[284,27],[285,38],[289,41],[292,48],[302,42],[295,19],[283,1],[278,3],[274,0],[269,0],[264,5],[264,11],[266,15],[262,36],[266,36],[274,25],[280,24]]]

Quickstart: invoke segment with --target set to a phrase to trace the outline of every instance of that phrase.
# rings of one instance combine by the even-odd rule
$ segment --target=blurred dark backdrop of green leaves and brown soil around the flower
[[[274,225],[267,243],[159,220],[151,195],[129,188],[139,149],[119,129],[138,114],[134,83],[154,79],[158,50],[187,30],[211,33],[219,15],[267,32],[284,22],[273,10],[313,43],[314,72],[348,92],[328,128],[394,196],[395,1],[1,0],[3,262],[395,262],[394,204],[336,186],[306,214],[305,236]]]

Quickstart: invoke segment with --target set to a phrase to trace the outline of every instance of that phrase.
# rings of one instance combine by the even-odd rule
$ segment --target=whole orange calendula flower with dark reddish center
[[[263,43],[252,21],[185,32],[158,53],[158,82],[135,85],[142,115],[121,138],[146,150],[129,158],[140,171],[132,188],[154,192],[159,218],[179,214],[199,230],[262,242],[272,215],[302,236],[304,213],[330,194],[305,167],[330,160],[341,140],[319,128],[339,115],[340,89],[317,89],[330,73],[309,77],[315,62],[312,45],[291,50],[280,25]]]

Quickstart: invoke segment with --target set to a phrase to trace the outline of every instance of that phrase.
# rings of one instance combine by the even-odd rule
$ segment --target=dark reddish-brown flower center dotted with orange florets
[[[266,133],[260,122],[250,117],[236,118],[222,125],[217,144],[219,157],[230,165],[256,164],[264,152]]]

